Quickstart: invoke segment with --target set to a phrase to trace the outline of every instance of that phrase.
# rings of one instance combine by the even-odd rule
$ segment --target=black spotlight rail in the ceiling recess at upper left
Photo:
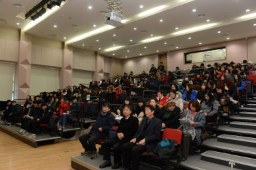
[[[44,13],[46,13],[45,7],[47,7],[48,9],[52,9],[55,5],[61,6],[62,1],[65,0],[42,0],[32,9],[27,11],[27,13],[25,13],[25,19],[31,17],[31,19],[35,21],[35,19],[41,17]]]

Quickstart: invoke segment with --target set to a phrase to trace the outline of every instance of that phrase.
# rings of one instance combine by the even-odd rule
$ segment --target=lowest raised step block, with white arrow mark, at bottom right
[[[256,169],[256,159],[216,151],[206,151],[205,153],[201,153],[201,160],[225,165],[227,167],[231,167],[230,163],[233,163],[233,167],[237,169]]]

